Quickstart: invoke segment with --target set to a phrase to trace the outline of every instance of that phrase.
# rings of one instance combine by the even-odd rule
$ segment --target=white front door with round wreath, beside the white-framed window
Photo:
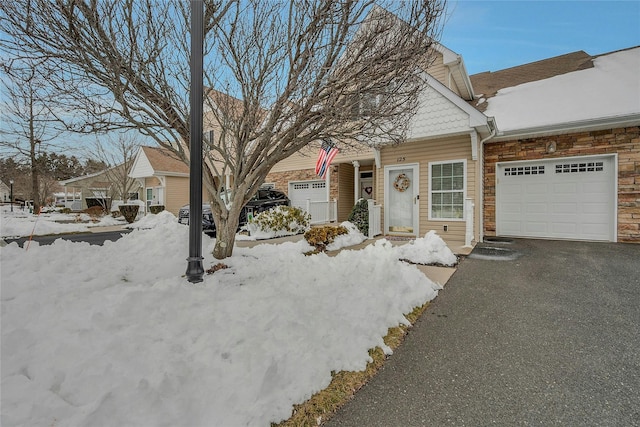
[[[384,168],[385,233],[417,236],[419,232],[418,165]]]

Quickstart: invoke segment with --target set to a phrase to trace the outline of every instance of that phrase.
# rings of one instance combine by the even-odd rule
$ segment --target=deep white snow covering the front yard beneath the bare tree
[[[0,248],[3,426],[268,426],[331,371],[364,369],[387,328],[437,295],[400,258],[455,262],[435,233],[335,257],[265,243],[191,284],[188,228],[166,212],[138,225],[104,246]],[[351,228],[336,246],[363,239]]]

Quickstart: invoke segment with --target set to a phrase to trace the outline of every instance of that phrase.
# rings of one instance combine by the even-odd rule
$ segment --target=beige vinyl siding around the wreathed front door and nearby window
[[[477,194],[477,160],[471,158],[471,138],[469,135],[450,137],[446,139],[427,140],[401,144],[397,147],[385,148],[381,152],[382,166],[400,166],[403,163],[418,163],[420,173],[420,231],[424,236],[430,230],[435,230],[443,239],[450,242],[464,242],[465,221],[429,220],[429,162],[466,160],[466,197],[475,200]],[[381,169],[376,180],[376,198],[384,200],[384,169]],[[393,191],[391,189],[390,191]],[[384,215],[384,209],[383,209]],[[384,218],[383,218],[384,221]],[[444,231],[443,226],[448,226]],[[475,203],[474,238],[478,240],[479,203]]]

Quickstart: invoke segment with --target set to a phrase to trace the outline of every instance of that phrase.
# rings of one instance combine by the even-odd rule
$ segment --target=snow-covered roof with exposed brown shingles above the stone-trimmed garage
[[[640,124],[640,46],[589,56],[574,52],[471,76],[487,91],[472,105],[496,119],[497,139]]]

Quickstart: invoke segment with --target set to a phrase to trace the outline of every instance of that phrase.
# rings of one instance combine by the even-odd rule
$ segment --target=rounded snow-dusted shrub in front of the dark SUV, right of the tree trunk
[[[251,234],[260,231],[289,235],[307,231],[310,223],[311,215],[308,212],[291,206],[276,206],[254,216],[247,228]]]

